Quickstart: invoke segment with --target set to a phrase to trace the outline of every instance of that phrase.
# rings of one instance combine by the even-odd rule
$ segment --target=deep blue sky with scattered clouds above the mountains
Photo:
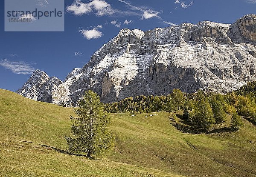
[[[35,0],[42,4],[51,0]],[[64,32],[5,32],[0,1],[0,88],[16,91],[35,69],[64,80],[120,29],[143,31],[256,14],[256,0],[65,0]]]

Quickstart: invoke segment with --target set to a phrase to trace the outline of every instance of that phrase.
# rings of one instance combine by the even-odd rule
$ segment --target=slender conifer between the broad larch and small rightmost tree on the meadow
[[[212,112],[213,112],[213,117],[215,119],[215,123],[222,123],[226,120],[226,113],[223,109],[223,107],[221,106],[221,103],[216,100],[215,98],[212,99]]]

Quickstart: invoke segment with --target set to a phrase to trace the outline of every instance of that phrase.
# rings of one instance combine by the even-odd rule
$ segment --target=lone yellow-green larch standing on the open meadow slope
[[[91,157],[92,154],[107,154],[113,148],[113,134],[108,131],[111,116],[103,110],[99,95],[86,91],[78,108],[74,108],[77,117],[70,116],[74,137],[65,136],[69,151],[87,153],[87,157]]]

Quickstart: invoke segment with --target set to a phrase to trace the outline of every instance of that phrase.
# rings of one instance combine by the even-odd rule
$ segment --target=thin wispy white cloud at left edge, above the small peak
[[[35,69],[31,64],[23,61],[10,61],[7,59],[0,60],[0,66],[11,70],[15,74],[32,74]]]

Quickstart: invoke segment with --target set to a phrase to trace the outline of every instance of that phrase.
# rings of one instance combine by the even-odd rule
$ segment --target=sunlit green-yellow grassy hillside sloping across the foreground
[[[256,177],[252,123],[243,120],[236,132],[189,134],[172,125],[173,114],[112,114],[116,148],[89,160],[61,151],[72,108],[0,89],[0,176]]]

